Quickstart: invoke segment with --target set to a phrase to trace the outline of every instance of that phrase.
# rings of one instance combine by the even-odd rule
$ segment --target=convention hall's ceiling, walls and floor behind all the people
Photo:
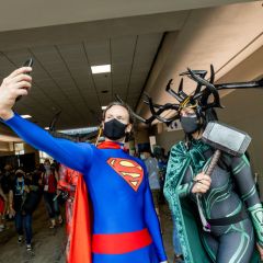
[[[165,91],[178,90],[187,68],[215,69],[215,83],[263,78],[263,2],[241,0],[10,0],[0,9],[0,77],[33,58],[33,85],[14,111],[55,137],[94,144],[105,106],[126,102],[142,118],[151,116],[144,102],[178,103]],[[102,71],[95,71],[96,66]],[[196,82],[183,76],[183,91]],[[147,95],[146,95],[147,94]],[[248,152],[263,202],[263,87],[219,92],[219,121],[248,133]],[[172,117],[169,110],[163,117]],[[164,149],[184,139],[179,121],[151,125],[137,121],[130,155],[149,146]],[[48,156],[0,124],[0,170],[7,164],[30,172]],[[72,157],[75,158],[75,157]],[[76,160],[77,161],[77,160]],[[65,262],[65,226],[48,228],[44,204],[33,216],[33,252],[18,245],[14,222],[0,231],[0,262]],[[61,210],[64,213],[64,207]],[[64,215],[62,215],[64,217]],[[172,217],[160,210],[169,262],[173,262]],[[5,220],[5,219],[4,219]]]

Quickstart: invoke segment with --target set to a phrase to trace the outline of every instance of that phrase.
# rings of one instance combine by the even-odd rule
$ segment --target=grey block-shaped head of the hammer
[[[209,122],[203,133],[202,140],[213,148],[232,156],[241,156],[248,149],[251,137],[226,124]]]

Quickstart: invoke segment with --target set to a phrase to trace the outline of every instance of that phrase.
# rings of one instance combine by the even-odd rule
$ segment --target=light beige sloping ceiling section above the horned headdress
[[[159,60],[156,61],[145,91],[151,94],[156,103],[175,102],[164,90],[173,79],[173,89],[178,89],[179,75],[187,69],[209,70],[213,64],[216,81],[249,81],[248,73],[240,72],[239,78],[224,78],[247,57],[263,46],[262,2],[225,5],[192,11],[183,30],[178,35],[170,34],[163,43]],[[263,60],[263,56],[259,58]],[[263,73],[262,64],[256,66],[258,76]],[[255,68],[251,68],[255,70]],[[208,71],[209,72],[209,71]],[[191,93],[195,82],[185,79],[184,91]],[[137,111],[149,116],[149,111],[140,102]],[[170,112],[167,116],[171,115]]]

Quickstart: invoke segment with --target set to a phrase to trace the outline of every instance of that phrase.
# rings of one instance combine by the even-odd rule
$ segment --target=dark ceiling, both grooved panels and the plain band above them
[[[0,76],[33,57],[33,89],[15,110],[32,115],[43,127],[59,110],[59,128],[98,125],[101,106],[115,93],[136,105],[163,33],[179,31],[186,15],[182,11],[4,32]],[[112,65],[112,73],[91,73],[90,66],[104,64]]]

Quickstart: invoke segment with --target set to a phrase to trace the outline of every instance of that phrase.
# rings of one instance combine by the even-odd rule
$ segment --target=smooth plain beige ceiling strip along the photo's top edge
[[[1,3],[0,31],[146,15],[243,2],[240,0],[9,0]]]

